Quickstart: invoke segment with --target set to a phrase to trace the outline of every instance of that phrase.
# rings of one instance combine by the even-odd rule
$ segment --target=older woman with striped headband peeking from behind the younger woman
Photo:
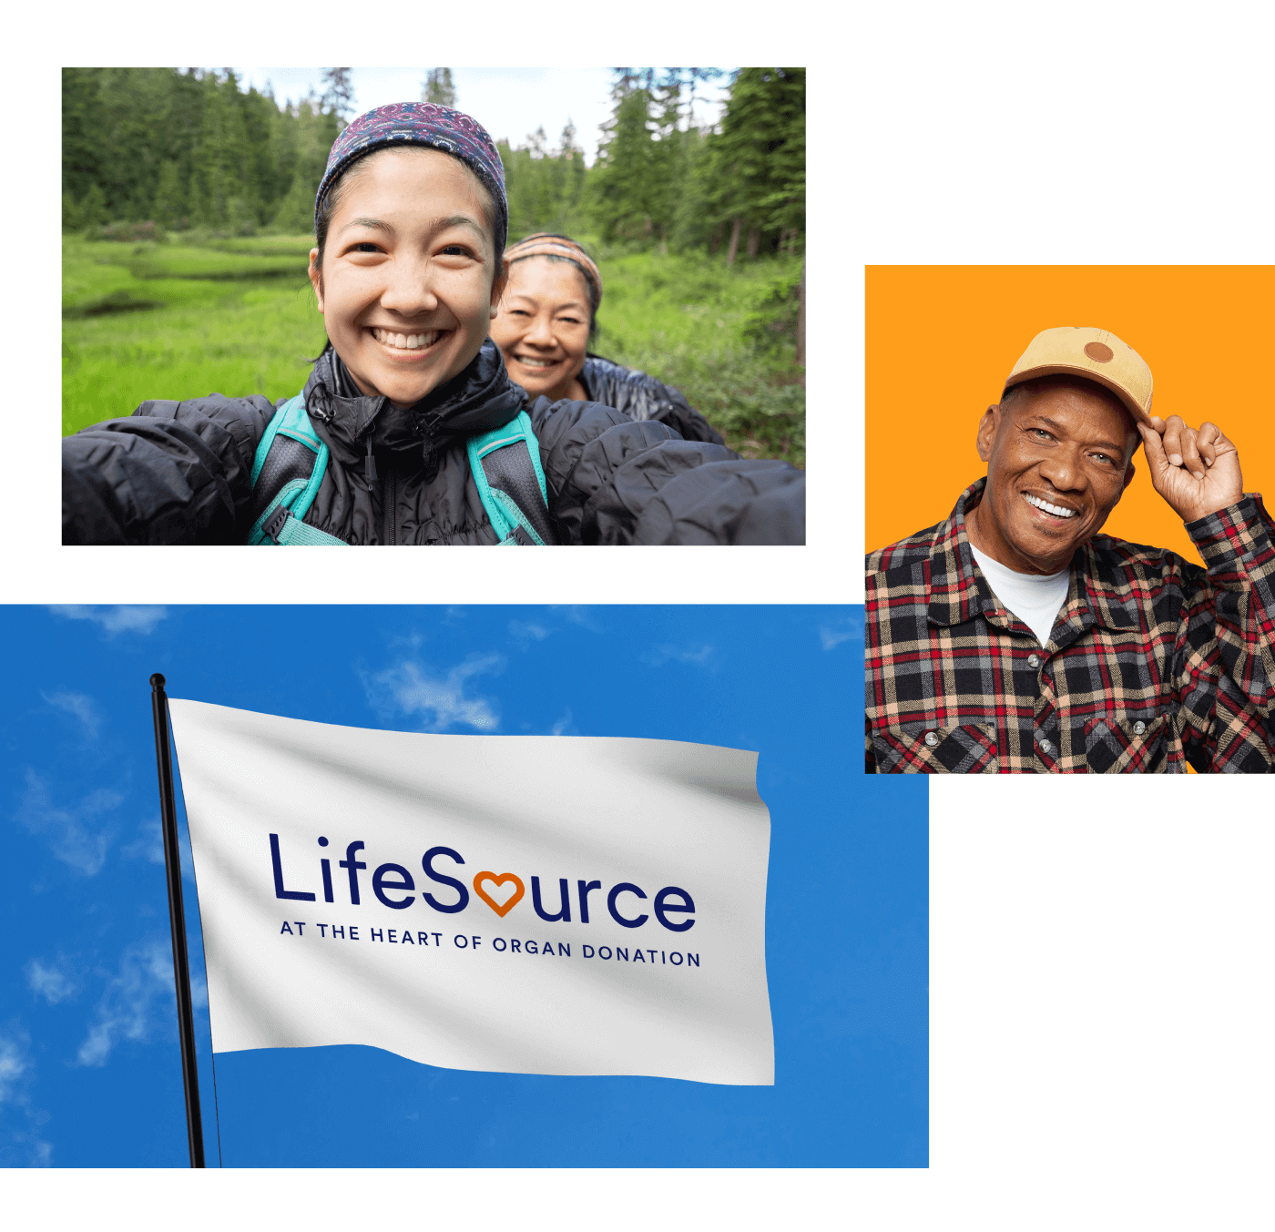
[[[724,444],[680,390],[588,349],[598,333],[602,275],[575,240],[528,236],[506,251],[505,268],[509,286],[491,337],[532,398],[601,402],[631,420],[659,420],[683,440]]]

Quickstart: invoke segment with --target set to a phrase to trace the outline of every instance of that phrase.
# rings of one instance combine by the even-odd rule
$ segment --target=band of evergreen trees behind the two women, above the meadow
[[[228,70],[61,70],[64,230],[107,222],[269,221],[310,231],[332,143],[352,110],[348,69],[325,71],[324,99],[280,102],[244,91]],[[613,114],[593,168],[570,121],[555,148],[543,129],[500,143],[510,236],[571,233],[705,247],[728,260],[803,247],[805,69],[743,69],[722,131],[696,125],[696,94],[718,69],[618,68]],[[425,97],[455,103],[450,69]]]

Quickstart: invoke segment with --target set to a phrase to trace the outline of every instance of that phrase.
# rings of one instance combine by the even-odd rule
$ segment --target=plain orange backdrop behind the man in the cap
[[[946,519],[987,474],[974,437],[1028,343],[1095,325],[1151,369],[1151,412],[1211,421],[1239,450],[1244,491],[1275,505],[1275,267],[864,265],[864,552]],[[1202,565],[1151,486],[1142,446],[1103,534]]]

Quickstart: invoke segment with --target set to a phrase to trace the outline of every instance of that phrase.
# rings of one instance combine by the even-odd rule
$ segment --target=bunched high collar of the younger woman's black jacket
[[[458,439],[502,427],[527,400],[490,338],[462,372],[412,407],[365,395],[332,347],[316,361],[303,394],[306,411],[324,425],[329,446],[347,466],[367,451],[368,436],[374,449],[398,454],[399,463],[414,454],[428,466]]]

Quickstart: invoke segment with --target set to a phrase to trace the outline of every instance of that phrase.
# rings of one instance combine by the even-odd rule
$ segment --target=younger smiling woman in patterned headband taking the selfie
[[[555,301],[570,348],[524,335],[530,388],[510,380],[487,335],[506,231],[500,154],[473,119],[433,103],[360,116],[315,199],[328,346],[305,388],[145,402],[65,437],[62,542],[803,543],[805,472],[562,388],[583,302],[567,320]]]

